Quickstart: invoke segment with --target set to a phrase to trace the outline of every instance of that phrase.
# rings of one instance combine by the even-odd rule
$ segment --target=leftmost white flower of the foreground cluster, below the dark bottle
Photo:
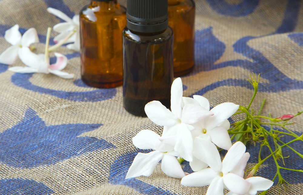
[[[178,153],[174,150],[161,152],[156,148],[156,143],[159,142],[160,135],[151,130],[140,131],[133,139],[133,144],[140,149],[153,149],[155,151],[149,153],[138,153],[135,157],[132,165],[129,167],[125,179],[138,177],[138,176],[150,176],[154,171],[156,165],[160,160],[162,171],[174,178],[182,178],[185,176],[181,165],[175,156]]]

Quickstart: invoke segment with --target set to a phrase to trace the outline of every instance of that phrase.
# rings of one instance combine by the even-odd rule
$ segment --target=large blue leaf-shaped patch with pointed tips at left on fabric
[[[46,126],[29,108],[15,126],[0,133],[0,162],[18,168],[55,164],[65,159],[115,148],[104,139],[79,136],[102,124],[67,124]]]

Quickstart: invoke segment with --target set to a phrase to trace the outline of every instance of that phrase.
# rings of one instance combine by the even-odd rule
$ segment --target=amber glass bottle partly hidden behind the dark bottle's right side
[[[179,77],[195,63],[195,2],[168,0],[168,24],[174,30],[174,76]]]

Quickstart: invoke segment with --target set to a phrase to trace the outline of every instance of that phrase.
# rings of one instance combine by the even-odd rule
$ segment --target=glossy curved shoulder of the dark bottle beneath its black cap
[[[161,33],[138,33],[129,30],[127,27],[123,30],[123,37],[128,41],[142,44],[158,44],[173,39],[174,32],[168,27]]]

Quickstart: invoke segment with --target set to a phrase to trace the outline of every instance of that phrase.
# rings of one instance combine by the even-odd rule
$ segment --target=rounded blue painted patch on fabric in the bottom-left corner
[[[35,195],[51,195],[55,193],[52,189],[43,183],[35,180],[25,180],[21,178],[2,179],[0,180],[0,194],[35,194]]]

